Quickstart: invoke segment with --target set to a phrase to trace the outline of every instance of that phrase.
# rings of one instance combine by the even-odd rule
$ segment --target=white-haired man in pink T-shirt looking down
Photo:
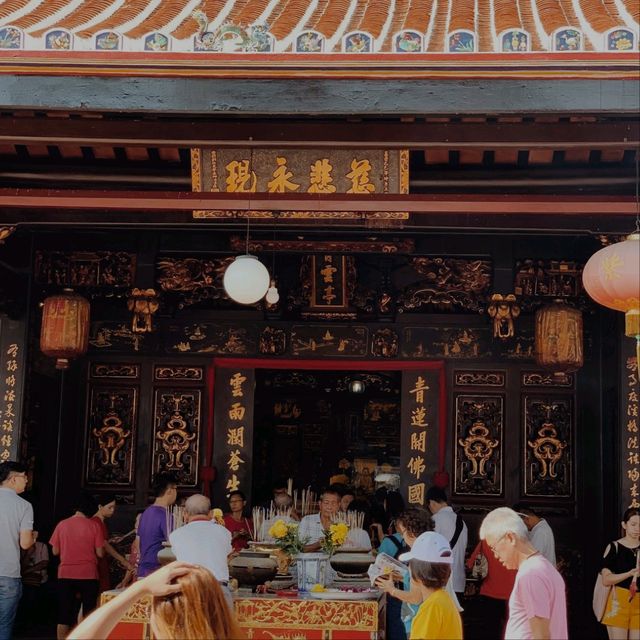
[[[557,569],[531,544],[522,518],[508,507],[482,522],[480,538],[507,569],[517,569],[509,598],[505,638],[566,640],[565,584]]]

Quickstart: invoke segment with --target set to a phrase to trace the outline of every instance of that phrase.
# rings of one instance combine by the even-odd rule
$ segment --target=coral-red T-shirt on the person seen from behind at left
[[[58,578],[98,579],[96,549],[104,546],[102,529],[95,520],[71,516],[56,526],[49,544],[60,551]]]

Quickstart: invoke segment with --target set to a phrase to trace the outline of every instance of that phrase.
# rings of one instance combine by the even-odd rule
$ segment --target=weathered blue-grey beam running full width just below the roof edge
[[[34,71],[32,71],[34,72]],[[558,71],[558,73],[560,73]],[[4,109],[175,114],[576,114],[640,110],[637,79],[231,79],[0,75]],[[170,131],[166,132],[170,135]]]

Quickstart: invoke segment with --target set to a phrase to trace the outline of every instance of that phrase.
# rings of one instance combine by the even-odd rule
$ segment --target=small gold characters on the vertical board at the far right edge
[[[626,385],[624,388],[626,411],[623,414],[622,452],[623,452],[623,476],[622,476],[622,506],[623,508],[640,508],[640,453],[638,453],[638,359],[627,357],[626,359]],[[626,427],[626,428],[625,428]]]

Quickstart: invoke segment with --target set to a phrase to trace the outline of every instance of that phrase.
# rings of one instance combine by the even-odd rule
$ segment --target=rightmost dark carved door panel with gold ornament
[[[572,396],[524,396],[525,495],[572,495],[573,419]]]

